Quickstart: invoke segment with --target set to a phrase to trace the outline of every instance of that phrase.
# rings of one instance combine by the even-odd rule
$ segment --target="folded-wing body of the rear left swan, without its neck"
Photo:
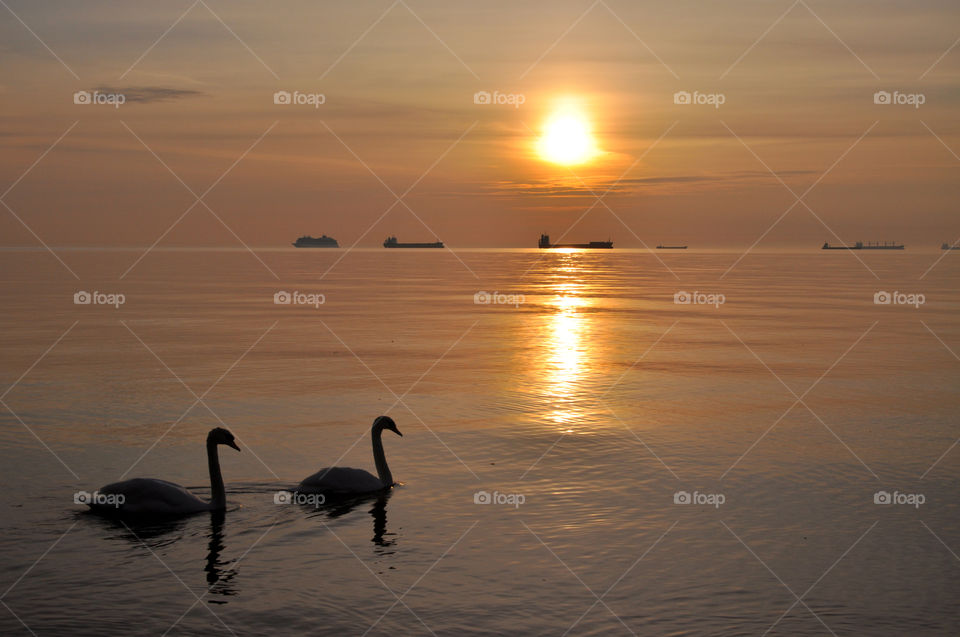
[[[134,478],[114,482],[99,490],[108,502],[91,503],[90,508],[101,513],[130,515],[170,515],[210,510],[210,504],[193,495],[179,484],[156,478]]]

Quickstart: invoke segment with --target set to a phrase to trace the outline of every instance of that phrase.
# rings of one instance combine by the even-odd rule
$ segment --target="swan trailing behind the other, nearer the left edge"
[[[217,445],[227,445],[240,451],[233,434],[223,427],[211,429],[207,434],[209,502],[201,500],[179,484],[156,478],[134,478],[101,487],[96,497],[87,504],[92,511],[105,515],[189,515],[201,511],[223,511],[227,506],[227,495],[220,475]]]

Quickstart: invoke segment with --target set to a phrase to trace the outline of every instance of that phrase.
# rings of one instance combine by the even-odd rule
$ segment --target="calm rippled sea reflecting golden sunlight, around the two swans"
[[[0,252],[4,635],[960,632],[960,254],[59,254]],[[274,503],[383,413],[402,486]],[[74,505],[218,425],[224,516]]]

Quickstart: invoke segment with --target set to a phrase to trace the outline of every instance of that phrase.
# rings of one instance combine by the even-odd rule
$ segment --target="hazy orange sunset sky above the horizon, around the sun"
[[[4,246],[960,238],[956,2],[5,3]]]

